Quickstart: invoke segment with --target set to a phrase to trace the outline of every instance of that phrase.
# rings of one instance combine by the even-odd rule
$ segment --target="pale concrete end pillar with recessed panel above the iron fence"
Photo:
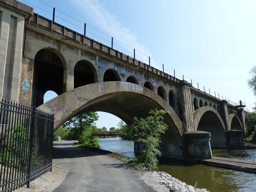
[[[33,8],[20,2],[0,1],[0,98],[18,100],[24,21]]]

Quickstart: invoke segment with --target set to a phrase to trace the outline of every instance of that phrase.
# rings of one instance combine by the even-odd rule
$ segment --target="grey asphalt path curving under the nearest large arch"
[[[114,158],[72,146],[71,141],[55,146],[53,163],[69,166],[70,172],[54,192],[155,192]]]

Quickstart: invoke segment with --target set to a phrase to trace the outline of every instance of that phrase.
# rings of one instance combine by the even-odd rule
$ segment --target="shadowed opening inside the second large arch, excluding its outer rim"
[[[206,111],[198,123],[198,131],[206,131],[211,133],[211,146],[226,146],[226,136],[224,124],[213,111]]]

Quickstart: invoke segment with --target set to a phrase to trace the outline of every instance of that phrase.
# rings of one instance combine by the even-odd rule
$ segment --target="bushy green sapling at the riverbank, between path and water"
[[[142,154],[138,156],[138,161],[152,168],[156,168],[158,164],[157,157],[161,156],[160,135],[168,128],[163,122],[165,110],[150,110],[150,116],[147,118],[134,118],[134,123],[131,126],[134,134],[134,141],[142,143],[144,149]]]

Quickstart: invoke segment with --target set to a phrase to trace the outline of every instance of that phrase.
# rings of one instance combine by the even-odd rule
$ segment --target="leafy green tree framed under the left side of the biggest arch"
[[[94,122],[98,120],[99,116],[96,112],[88,112],[79,114],[68,120],[63,128],[66,128],[72,132],[74,139],[78,140],[82,144],[83,132],[90,126],[94,125]]]

